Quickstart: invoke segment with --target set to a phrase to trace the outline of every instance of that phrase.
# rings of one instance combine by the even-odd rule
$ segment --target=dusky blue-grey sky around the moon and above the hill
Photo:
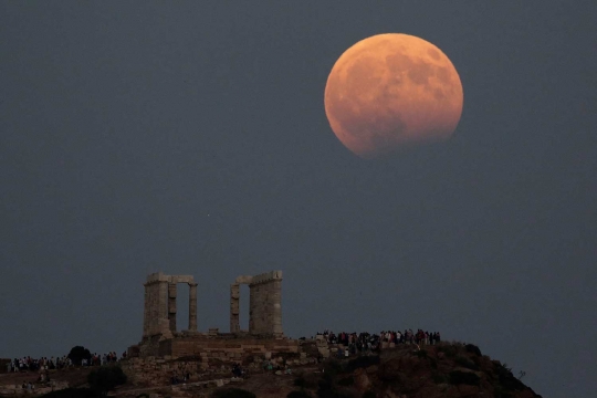
[[[122,353],[156,271],[195,275],[199,328],[228,332],[234,277],[282,270],[289,336],[440,331],[545,397],[594,397],[595,15],[0,2],[0,357]],[[446,143],[364,160],[324,88],[346,49],[387,32],[450,57],[463,113]]]

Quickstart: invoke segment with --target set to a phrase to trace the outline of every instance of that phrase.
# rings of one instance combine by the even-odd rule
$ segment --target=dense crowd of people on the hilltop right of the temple
[[[325,339],[329,344],[342,344],[347,347],[346,355],[357,354],[363,352],[373,352],[380,348],[381,343],[394,344],[417,344],[417,345],[434,345],[441,342],[439,332],[428,332],[422,329],[400,331],[381,331],[379,334],[363,333],[346,333],[341,332],[335,334],[332,331],[317,332],[318,338]]]

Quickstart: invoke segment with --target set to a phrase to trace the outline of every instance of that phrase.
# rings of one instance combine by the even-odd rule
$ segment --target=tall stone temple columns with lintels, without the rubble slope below
[[[178,331],[176,324],[179,283],[189,285],[189,327],[185,331]],[[240,329],[241,284],[249,285],[249,331]],[[235,279],[230,286],[230,333],[220,333],[217,328],[198,331],[197,283],[191,275],[166,275],[156,272],[147,276],[144,286],[143,338],[138,345],[129,348],[133,356],[197,355],[210,349],[218,339],[258,338],[273,342],[283,337],[282,271]]]

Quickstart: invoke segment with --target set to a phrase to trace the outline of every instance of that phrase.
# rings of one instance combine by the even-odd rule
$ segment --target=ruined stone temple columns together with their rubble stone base
[[[178,331],[177,284],[189,292],[189,327]],[[249,329],[240,328],[240,286],[249,286]],[[315,364],[329,355],[327,342],[292,339],[282,329],[282,271],[239,276],[230,285],[230,332],[197,327],[197,283],[191,275],[147,276],[142,341],[128,347],[123,370],[137,381],[168,384],[174,375],[191,380],[229,374],[231,366],[243,364],[262,369],[264,360],[275,365]],[[228,370],[227,370],[228,369]]]

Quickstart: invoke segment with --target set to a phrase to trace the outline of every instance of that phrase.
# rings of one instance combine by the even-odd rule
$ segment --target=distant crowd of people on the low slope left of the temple
[[[126,353],[123,353],[122,358],[126,358]],[[41,357],[32,358],[30,356],[22,358],[14,358],[7,364],[8,373],[12,371],[42,371],[42,370],[54,370],[54,369],[65,369],[74,366],[101,366],[114,364],[118,360],[118,355],[116,352],[109,352],[104,355],[93,354],[90,358],[83,358],[81,364],[74,364],[73,360],[67,356],[63,355],[62,357]]]

